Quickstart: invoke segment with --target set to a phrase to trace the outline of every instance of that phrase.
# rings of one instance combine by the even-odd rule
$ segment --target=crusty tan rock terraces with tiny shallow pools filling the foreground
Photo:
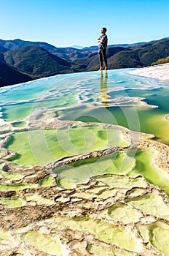
[[[93,125],[55,119],[44,123],[43,128],[76,124]],[[36,128],[41,125],[36,123]],[[3,148],[9,136],[4,134],[1,168],[6,175],[1,176],[0,183],[2,256],[163,255],[162,245],[157,246],[154,241],[158,229],[169,232],[169,201],[162,189],[149,184],[143,176],[115,174],[91,177],[86,184],[64,189],[52,172],[57,166],[79,159],[137,148],[157,151],[155,164],[168,172],[168,146],[150,140],[152,135],[118,129],[130,146],[105,148],[34,167],[19,167],[5,161],[15,152]],[[135,205],[138,197],[145,207]]]

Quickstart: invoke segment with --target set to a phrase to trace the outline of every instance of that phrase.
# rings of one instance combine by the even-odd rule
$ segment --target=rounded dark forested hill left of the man
[[[67,72],[70,61],[61,59],[36,45],[29,45],[4,53],[4,61],[34,78],[43,78]]]

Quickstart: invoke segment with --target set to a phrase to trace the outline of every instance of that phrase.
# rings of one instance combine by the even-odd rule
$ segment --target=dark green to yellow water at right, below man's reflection
[[[169,144],[169,122],[165,120],[168,112],[158,108],[110,107],[105,109],[85,106],[85,108],[76,107],[74,110],[61,110],[59,118],[118,124],[135,132],[153,134],[160,142]]]

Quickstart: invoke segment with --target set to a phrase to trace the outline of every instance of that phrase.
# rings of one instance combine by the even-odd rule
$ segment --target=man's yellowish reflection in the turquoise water
[[[107,89],[108,73],[105,72],[105,78],[103,78],[103,70],[101,70],[101,102],[105,108],[109,108],[109,93]]]

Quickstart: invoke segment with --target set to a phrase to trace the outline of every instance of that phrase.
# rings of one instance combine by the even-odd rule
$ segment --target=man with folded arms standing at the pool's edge
[[[107,49],[107,42],[108,38],[106,36],[106,28],[101,29],[101,37],[98,38],[99,42],[99,59],[100,59],[100,70],[103,69],[103,59],[105,62],[105,70],[107,69],[107,57],[106,57],[106,49]]]

